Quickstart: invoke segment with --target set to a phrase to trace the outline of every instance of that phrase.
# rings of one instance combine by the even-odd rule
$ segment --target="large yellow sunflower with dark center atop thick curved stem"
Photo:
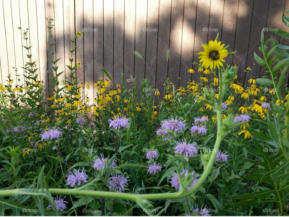
[[[221,45],[221,42],[209,41],[209,45],[203,44],[203,52],[199,52],[200,62],[204,68],[211,68],[211,70],[220,66],[223,66],[222,62],[225,62],[224,58],[228,56],[228,50],[224,48],[225,44]]]

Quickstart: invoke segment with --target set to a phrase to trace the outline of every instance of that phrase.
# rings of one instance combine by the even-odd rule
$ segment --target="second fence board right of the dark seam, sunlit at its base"
[[[84,79],[85,79],[85,95],[93,100],[93,0],[85,0],[85,7],[83,12],[83,25],[84,25]],[[87,82],[90,83],[87,89]],[[93,101],[89,102],[89,105]]]

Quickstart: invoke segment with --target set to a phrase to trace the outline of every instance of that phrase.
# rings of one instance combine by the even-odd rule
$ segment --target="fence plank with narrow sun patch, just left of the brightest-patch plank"
[[[171,27],[169,39],[169,80],[177,87],[179,85],[179,70],[182,49],[184,1],[173,0],[171,12]]]

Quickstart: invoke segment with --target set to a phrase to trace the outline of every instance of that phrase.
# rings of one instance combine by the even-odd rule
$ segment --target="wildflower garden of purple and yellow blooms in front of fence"
[[[85,33],[77,31],[64,80],[51,52],[47,95],[29,29],[19,28],[30,61],[0,84],[1,215],[289,214],[288,46],[262,31],[255,61],[266,75],[243,85],[236,80],[245,72],[226,64],[238,50],[228,52],[217,36],[187,69],[200,79],[177,87],[167,78],[161,95],[145,91],[155,88],[148,79],[139,92],[123,75],[110,89],[105,68],[107,79],[78,82],[73,53]]]

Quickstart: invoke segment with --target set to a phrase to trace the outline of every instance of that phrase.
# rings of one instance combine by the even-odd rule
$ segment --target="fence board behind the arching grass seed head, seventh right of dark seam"
[[[136,0],[135,6],[135,50],[145,59],[145,45],[147,28],[147,1]],[[144,61],[135,56],[135,74],[138,92],[140,91],[141,81],[144,79]]]

